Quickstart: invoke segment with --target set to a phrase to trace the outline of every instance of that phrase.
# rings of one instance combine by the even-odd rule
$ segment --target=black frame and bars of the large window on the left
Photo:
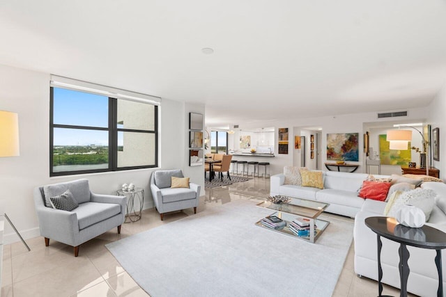
[[[141,130],[141,129],[125,129],[118,128],[117,118],[118,118],[118,100],[125,100],[122,98],[114,98],[103,95],[108,98],[109,111],[108,111],[108,127],[92,127],[92,126],[79,126],[79,125],[61,125],[54,124],[54,88],[61,88],[59,86],[50,86],[49,90],[49,176],[66,176],[66,175],[82,175],[89,173],[98,173],[98,172],[111,172],[111,171],[122,171],[122,170],[136,170],[136,169],[144,169],[144,168],[157,168],[158,167],[158,139],[159,139],[159,109],[157,104],[151,104],[142,102],[144,104],[151,104],[154,106],[154,130]],[[63,89],[63,88],[62,88]],[[68,88],[68,90],[73,90],[72,88]],[[74,90],[76,92],[81,93],[89,93],[84,90]],[[83,129],[83,130],[94,130],[94,131],[108,131],[109,133],[109,156],[108,156],[108,168],[99,168],[99,169],[91,169],[91,170],[73,170],[73,171],[61,171],[61,172],[53,172],[53,164],[54,164],[54,129],[62,128],[62,129]],[[146,133],[146,134],[154,134],[155,135],[155,164],[153,165],[143,165],[143,166],[125,166],[118,167],[118,132],[135,132],[135,133]]]

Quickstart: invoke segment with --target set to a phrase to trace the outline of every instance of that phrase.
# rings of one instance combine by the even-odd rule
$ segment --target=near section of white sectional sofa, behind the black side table
[[[446,232],[446,184],[440,182],[424,182],[422,188],[436,192],[436,205],[433,207],[428,223],[431,227]],[[376,234],[364,223],[369,216],[383,216],[386,202],[366,200],[360,212],[355,216],[355,273],[373,280],[378,280],[378,255]],[[443,208],[440,209],[440,207]],[[383,280],[385,284],[400,287],[399,282],[399,243],[381,237],[383,248],[381,249],[381,265],[383,268]],[[434,258],[435,250],[425,250],[408,246],[410,257],[408,265],[410,274],[407,289],[410,293],[419,296],[437,296],[438,273]],[[446,251],[442,251],[443,266],[443,292],[446,294]]]

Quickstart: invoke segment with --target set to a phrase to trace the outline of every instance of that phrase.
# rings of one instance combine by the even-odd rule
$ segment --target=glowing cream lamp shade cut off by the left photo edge
[[[0,111],[0,156],[19,156],[19,117]]]

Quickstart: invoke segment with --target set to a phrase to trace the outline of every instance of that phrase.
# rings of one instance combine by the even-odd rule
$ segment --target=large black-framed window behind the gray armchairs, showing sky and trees
[[[157,106],[51,88],[50,175],[157,166]]]

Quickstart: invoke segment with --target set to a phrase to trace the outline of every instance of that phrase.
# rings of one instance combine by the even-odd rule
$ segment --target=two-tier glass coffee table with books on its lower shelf
[[[324,209],[326,209],[329,205],[330,204],[328,203],[316,202],[302,198],[291,198],[291,202],[286,204],[274,204],[269,201],[264,201],[257,204],[257,206],[275,210],[275,212],[270,214],[270,216],[282,218],[282,220],[286,221],[286,226],[282,229],[272,229],[263,225],[260,220],[255,225],[314,243],[314,241],[321,236],[325,228],[327,228],[328,224],[330,224],[330,222],[327,220],[318,219],[318,216],[321,215]],[[309,236],[298,236],[290,230],[290,222],[298,217],[309,220]],[[316,232],[314,232],[314,225],[316,225]]]

